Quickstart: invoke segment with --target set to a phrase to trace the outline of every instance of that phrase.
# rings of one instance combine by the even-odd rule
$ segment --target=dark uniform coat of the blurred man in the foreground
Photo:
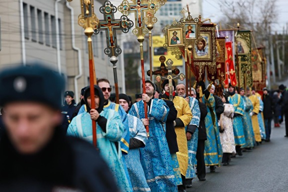
[[[59,128],[50,142],[32,155],[18,153],[7,133],[2,134],[0,173],[1,192],[51,192],[59,188],[118,191],[113,175],[95,148],[86,141],[67,137]]]

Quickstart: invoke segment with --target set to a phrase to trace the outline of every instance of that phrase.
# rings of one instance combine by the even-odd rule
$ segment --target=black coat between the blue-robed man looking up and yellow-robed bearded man
[[[166,120],[166,139],[168,143],[168,147],[170,150],[170,153],[176,153],[179,151],[178,144],[177,144],[177,135],[174,128],[174,121],[177,118],[177,110],[174,106],[174,103],[172,101],[163,99],[165,101],[166,105],[169,107],[169,113]]]

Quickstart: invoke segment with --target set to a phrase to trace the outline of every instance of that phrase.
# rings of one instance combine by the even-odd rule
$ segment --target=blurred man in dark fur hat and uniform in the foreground
[[[94,147],[60,128],[65,80],[40,65],[0,72],[0,191],[118,191]]]

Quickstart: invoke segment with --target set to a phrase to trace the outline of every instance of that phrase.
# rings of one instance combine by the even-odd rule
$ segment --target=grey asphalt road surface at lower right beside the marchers
[[[243,156],[236,155],[230,165],[206,168],[206,181],[193,179],[187,192],[288,192],[288,137],[285,122],[274,128],[271,141],[263,141]]]

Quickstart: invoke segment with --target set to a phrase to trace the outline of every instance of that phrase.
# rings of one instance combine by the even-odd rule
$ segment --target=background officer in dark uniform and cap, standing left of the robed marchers
[[[63,131],[66,133],[69,124],[72,121],[72,115],[76,109],[77,104],[75,103],[74,93],[73,91],[65,91],[64,93],[65,103],[62,106],[62,114],[63,114]]]

